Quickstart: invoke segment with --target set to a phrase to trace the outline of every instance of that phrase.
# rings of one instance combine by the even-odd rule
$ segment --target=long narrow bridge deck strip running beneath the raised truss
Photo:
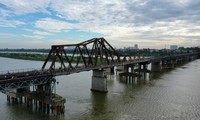
[[[187,54],[191,55],[191,54]],[[114,66],[121,66],[121,65],[127,65],[127,64],[139,64],[139,63],[152,63],[157,62],[161,60],[167,60],[167,59],[175,59],[177,57],[186,56],[186,54],[183,55],[176,55],[176,56],[165,56],[165,57],[156,57],[156,58],[142,58],[142,59],[134,59],[134,60],[126,60],[122,62],[115,62],[110,64],[101,64],[101,65],[89,65],[89,66],[77,66],[77,67],[68,67],[64,69],[56,68],[54,70],[49,69],[38,69],[38,70],[31,70],[31,71],[24,71],[24,72],[14,72],[14,73],[6,73],[0,75],[0,85],[7,84],[7,83],[13,83],[17,81],[26,81],[28,79],[39,79],[39,78],[45,78],[47,76],[59,76],[59,75],[69,75],[73,73],[78,73],[82,71],[90,71],[93,69],[101,69],[101,68],[111,68]]]

